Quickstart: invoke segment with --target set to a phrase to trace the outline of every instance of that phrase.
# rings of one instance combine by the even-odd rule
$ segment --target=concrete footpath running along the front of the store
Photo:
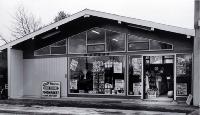
[[[80,107],[98,109],[120,109],[176,112],[199,115],[199,108],[178,102],[159,102],[136,99],[111,99],[111,98],[81,98],[68,97],[64,99],[9,99],[0,100],[0,113],[5,112],[5,106],[18,105],[19,107],[44,106],[44,107]],[[12,112],[12,109],[9,109]],[[54,113],[55,114],[55,113]]]

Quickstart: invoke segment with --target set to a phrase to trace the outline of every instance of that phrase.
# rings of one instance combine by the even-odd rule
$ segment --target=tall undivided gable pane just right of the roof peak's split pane
[[[107,51],[125,51],[125,34],[106,31]]]

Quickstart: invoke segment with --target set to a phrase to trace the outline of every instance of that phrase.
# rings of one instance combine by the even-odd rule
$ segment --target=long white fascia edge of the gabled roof
[[[5,44],[3,46],[0,46],[0,50],[12,47],[13,45],[16,45],[18,43],[21,43],[25,40],[34,38],[35,36],[42,34],[44,32],[47,32],[53,28],[57,28],[60,25],[63,25],[65,23],[68,23],[74,19],[80,18],[82,16],[96,16],[96,17],[101,17],[101,18],[106,18],[106,19],[112,19],[120,22],[126,22],[130,24],[135,24],[135,25],[141,25],[145,27],[150,27],[150,28],[155,28],[159,30],[164,30],[164,31],[169,31],[169,32],[174,32],[174,33],[179,33],[179,34],[184,34],[188,36],[194,36],[195,31],[193,29],[186,29],[186,28],[181,28],[181,27],[176,27],[176,26],[170,26],[170,25],[165,25],[165,24],[160,24],[160,23],[155,23],[152,21],[145,21],[145,20],[140,20],[140,19],[135,19],[135,18],[130,18],[130,17],[124,17],[124,16],[119,16],[115,14],[110,14],[110,13],[105,13],[105,12],[99,12],[99,11],[94,11],[94,10],[89,10],[85,9],[83,11],[80,11],[78,13],[73,14],[72,16],[65,18],[63,20],[60,20],[56,23],[53,23],[51,25],[48,25],[40,30],[37,30],[35,32],[32,32],[20,39],[16,39],[8,44]]]

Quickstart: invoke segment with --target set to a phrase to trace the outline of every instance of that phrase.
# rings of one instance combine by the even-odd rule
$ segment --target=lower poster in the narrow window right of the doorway
[[[187,83],[177,83],[176,93],[177,95],[187,95]]]

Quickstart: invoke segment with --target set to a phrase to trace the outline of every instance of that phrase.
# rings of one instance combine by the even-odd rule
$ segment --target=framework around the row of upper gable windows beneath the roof
[[[93,29],[103,29],[105,32],[104,32],[104,34],[105,34],[105,42],[104,43],[90,43],[90,44],[88,44],[87,43],[87,40],[88,40],[88,31],[91,31],[91,30],[93,30]],[[108,51],[107,50],[107,47],[108,47],[108,45],[107,45],[107,39],[108,39],[108,37],[107,37],[107,31],[110,31],[110,32],[115,32],[115,33],[119,33],[119,34],[123,34],[123,36],[124,36],[124,50],[123,51]],[[82,33],[85,33],[85,42],[86,42],[86,44],[85,44],[85,52],[84,53],[73,53],[73,52],[69,52],[69,39],[70,38],[72,38],[72,37],[74,37],[74,36],[76,36],[76,35],[79,35],[79,34],[82,34]],[[144,39],[148,39],[148,42],[144,42],[144,43],[148,43],[149,45],[148,45],[148,49],[139,49],[139,50],[129,50],[129,45],[131,44],[131,43],[143,43],[142,41],[141,42],[129,42],[129,36],[137,36],[137,37],[141,37],[141,38],[144,38]],[[134,34],[128,34],[128,33],[124,33],[124,32],[119,32],[119,31],[115,31],[115,30],[111,30],[111,29],[106,29],[106,28],[103,28],[103,27],[93,27],[93,28],[90,28],[90,29],[88,29],[88,30],[85,30],[85,31],[82,31],[82,32],[80,32],[80,33],[77,33],[77,34],[74,34],[74,35],[72,35],[72,36],[69,36],[69,37],[66,37],[65,39],[63,39],[63,40],[66,40],[66,53],[65,54],[91,54],[91,53],[95,53],[96,51],[88,51],[88,46],[89,45],[104,45],[104,51],[97,51],[96,53],[120,53],[120,52],[127,52],[127,53],[129,53],[129,52],[143,52],[143,51],[148,51],[148,52],[150,52],[150,51],[172,51],[172,50],[174,50],[174,45],[173,44],[171,44],[171,43],[167,43],[167,42],[162,42],[162,41],[158,41],[158,40],[154,40],[154,39],[149,39],[149,38],[146,38],[146,37],[142,37],[142,36],[138,36],[138,35],[134,35]],[[60,41],[62,41],[62,40],[60,40]],[[60,42],[60,41],[57,41],[57,42]],[[151,41],[157,41],[157,42],[160,42],[160,43],[165,43],[165,44],[169,44],[169,45],[171,45],[172,46],[172,48],[171,49],[157,49],[157,50],[151,50]],[[55,43],[57,43],[57,42],[55,42]],[[55,44],[55,43],[53,43],[53,44]],[[59,47],[59,46],[51,46],[52,44],[50,44],[50,45],[48,45],[49,47],[50,47],[50,54],[41,54],[41,55],[36,55],[36,51],[38,51],[38,50],[40,50],[40,49],[42,49],[42,48],[44,48],[44,47],[42,47],[42,48],[40,48],[40,49],[37,49],[37,50],[35,50],[34,51],[34,56],[46,56],[46,55],[65,55],[65,54],[51,54],[51,47]],[[45,46],[45,47],[48,47],[48,46]],[[63,45],[64,46],[64,45]]]

